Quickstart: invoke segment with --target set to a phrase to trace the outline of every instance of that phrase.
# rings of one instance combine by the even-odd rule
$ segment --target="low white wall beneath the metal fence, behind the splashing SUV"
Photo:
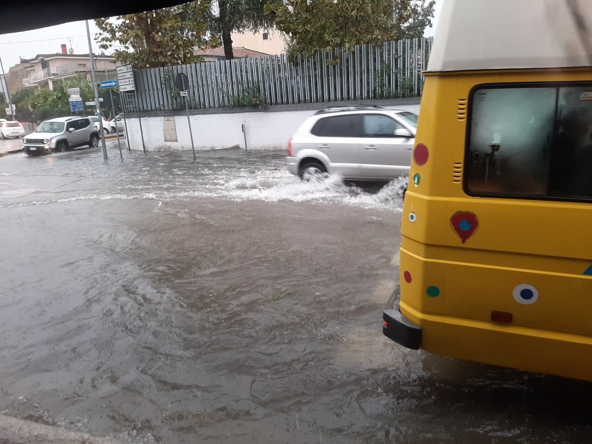
[[[397,105],[397,108],[419,113],[419,104]],[[189,115],[195,149],[217,149],[240,146],[244,149],[242,124],[246,128],[247,147],[250,150],[285,150],[288,140],[300,124],[316,110],[230,112],[227,114]],[[130,147],[142,149],[140,124],[137,117],[126,115]],[[165,142],[163,122],[165,117],[142,117],[142,130],[146,150],[190,150],[191,139],[186,115],[177,115],[176,142]]]

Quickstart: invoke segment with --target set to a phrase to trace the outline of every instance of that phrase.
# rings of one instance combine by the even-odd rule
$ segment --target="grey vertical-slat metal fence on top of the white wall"
[[[419,96],[431,49],[432,38],[414,38],[298,54],[294,62],[282,54],[134,70],[136,101],[141,111],[184,108],[179,72],[189,77],[191,109]]]

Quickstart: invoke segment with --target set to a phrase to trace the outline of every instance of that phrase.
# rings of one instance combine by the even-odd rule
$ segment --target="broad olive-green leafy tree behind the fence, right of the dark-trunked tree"
[[[311,55],[331,47],[382,43],[397,38],[411,0],[286,0],[265,6],[278,30],[291,39],[290,53]]]

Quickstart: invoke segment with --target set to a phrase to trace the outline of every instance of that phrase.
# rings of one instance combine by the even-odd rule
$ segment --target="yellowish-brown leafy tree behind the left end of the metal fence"
[[[101,33],[95,37],[102,50],[115,47],[115,60],[148,68],[201,62],[194,48],[218,44],[209,33],[211,0],[190,3],[139,14],[98,18]]]

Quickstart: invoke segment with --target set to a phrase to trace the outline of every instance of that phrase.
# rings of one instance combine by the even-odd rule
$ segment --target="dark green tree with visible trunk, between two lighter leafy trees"
[[[255,33],[273,26],[272,17],[264,11],[268,3],[269,0],[218,0],[217,10],[211,18],[211,30],[222,41],[226,60],[234,59],[232,33]]]

